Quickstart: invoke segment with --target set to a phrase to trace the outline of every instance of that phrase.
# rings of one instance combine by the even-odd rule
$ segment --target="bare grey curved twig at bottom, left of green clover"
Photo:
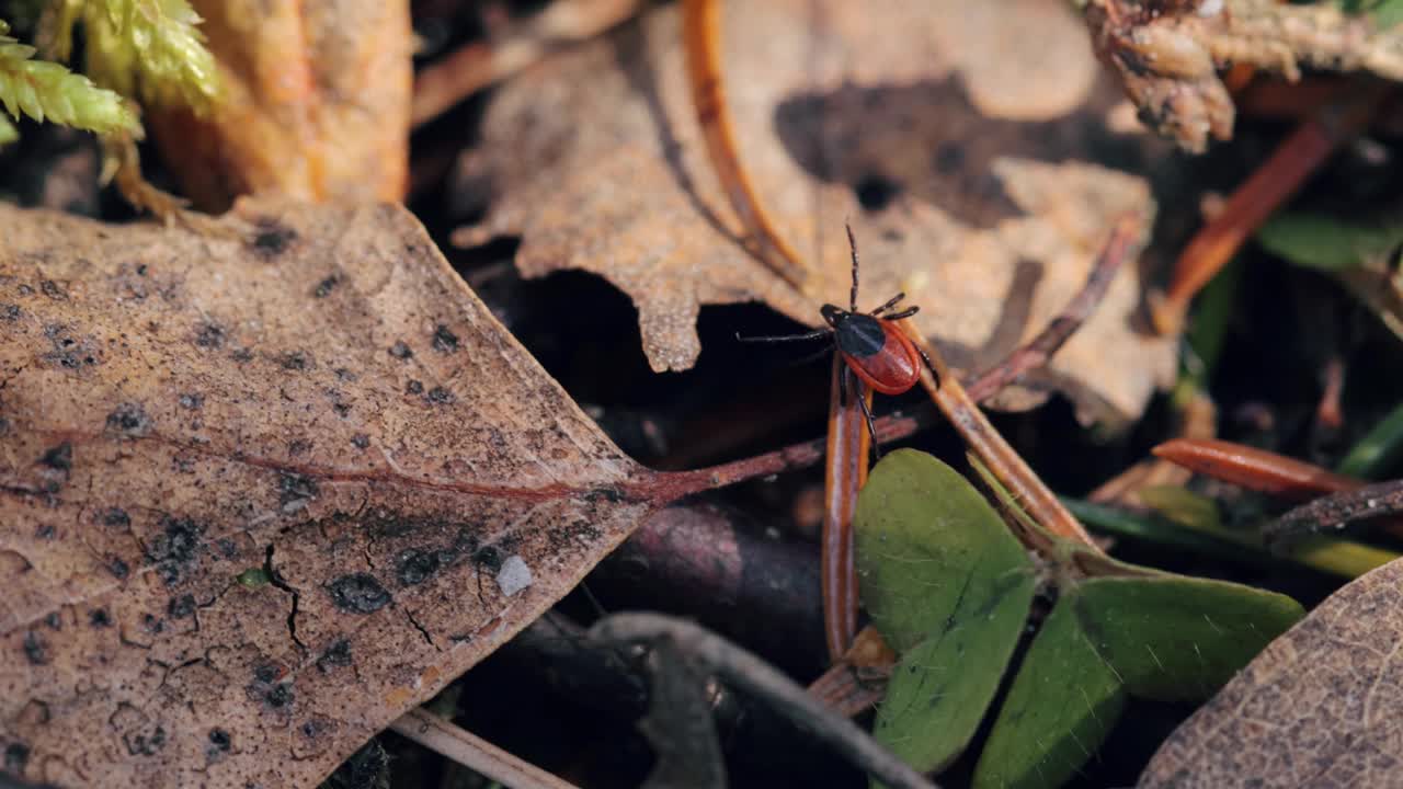
[[[926,781],[853,722],[825,708],[788,677],[697,625],[661,614],[615,614],[591,628],[589,633],[607,642],[669,639],[679,650],[723,679],[769,701],[777,712],[833,745],[878,781],[890,786],[934,789],[934,783]]]

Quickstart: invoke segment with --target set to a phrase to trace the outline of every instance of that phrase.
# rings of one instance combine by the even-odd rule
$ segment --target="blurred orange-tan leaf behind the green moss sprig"
[[[404,198],[414,52],[407,0],[192,0],[223,91],[208,119],[152,107],[185,197]]]

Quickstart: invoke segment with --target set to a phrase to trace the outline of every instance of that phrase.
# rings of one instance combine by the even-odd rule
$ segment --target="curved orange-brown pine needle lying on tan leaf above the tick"
[[[807,270],[798,253],[774,229],[745,167],[731,110],[725,102],[721,72],[721,8],[717,0],[683,0],[682,44],[686,49],[687,83],[707,153],[725,195],[748,234],[751,251],[794,288],[803,289]]]

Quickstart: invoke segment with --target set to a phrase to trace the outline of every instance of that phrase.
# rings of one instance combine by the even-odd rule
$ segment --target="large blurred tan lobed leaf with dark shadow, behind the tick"
[[[763,300],[817,324],[822,300],[846,303],[852,218],[863,306],[906,291],[951,361],[982,369],[1078,292],[1115,218],[1153,215],[1142,174],[1169,164],[1167,146],[1107,128],[1117,90],[1061,0],[728,3],[723,28],[739,149],[811,296],[732,234],[673,8],[498,91],[456,173],[457,209],[487,215],[456,243],[521,234],[528,275],[606,277],[666,371],[700,352],[702,305]],[[1174,365],[1173,343],[1131,329],[1139,293],[1128,267],[1026,383],[1068,390],[1086,416],[1138,414]],[[1041,399],[1016,389],[996,406]]]

